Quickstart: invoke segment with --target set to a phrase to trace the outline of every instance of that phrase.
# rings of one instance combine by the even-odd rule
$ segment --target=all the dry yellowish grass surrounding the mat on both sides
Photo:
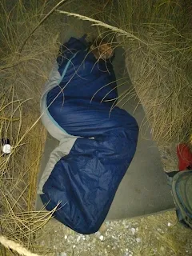
[[[55,12],[38,26],[54,2],[19,0],[7,4],[2,0],[0,5],[0,130],[2,138],[10,138],[14,146],[9,156],[0,156],[1,233],[32,248],[33,234],[51,218],[51,213],[43,210],[34,212],[36,178],[46,138],[38,122],[38,105],[42,85],[58,53],[63,14]],[[119,0],[101,5],[86,1],[86,8],[81,6],[85,1],[74,3],[73,13],[84,17],[70,15],[98,25],[102,38],[114,42],[116,37],[114,47],[126,48],[130,76],[154,139],[162,144],[187,141],[192,130],[191,3]],[[66,14],[71,11],[70,6],[62,6],[62,10]],[[121,95],[127,100],[133,96],[130,90]],[[156,225],[155,219],[150,222]],[[163,239],[160,244],[170,241]]]

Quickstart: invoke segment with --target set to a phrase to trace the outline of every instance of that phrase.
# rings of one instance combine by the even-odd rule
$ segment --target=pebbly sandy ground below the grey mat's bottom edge
[[[77,234],[54,219],[36,237],[38,252],[57,256],[192,255],[191,230],[174,211],[146,218],[105,222],[95,234]]]

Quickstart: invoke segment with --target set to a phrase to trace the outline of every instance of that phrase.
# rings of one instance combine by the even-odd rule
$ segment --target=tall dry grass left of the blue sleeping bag
[[[10,138],[13,150],[0,155],[0,230],[32,248],[35,232],[53,214],[43,209],[35,212],[34,201],[46,139],[46,130],[38,122],[39,100],[58,53],[58,32],[50,21],[53,30],[48,30],[47,22],[28,38],[51,7],[45,2],[1,1],[1,7],[0,131],[1,138]],[[6,255],[7,250],[1,247],[1,253]]]

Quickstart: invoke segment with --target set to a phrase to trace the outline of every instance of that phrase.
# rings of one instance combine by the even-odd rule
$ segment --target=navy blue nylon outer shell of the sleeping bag
[[[41,198],[47,210],[61,202],[54,213],[59,222],[79,233],[92,234],[106,218],[134,157],[138,125],[125,110],[115,107],[110,113],[114,101],[101,103],[108,93],[105,100],[118,96],[117,90],[112,90],[117,86],[113,65],[102,60],[95,65],[84,38],[70,38],[62,46],[59,73],[62,75],[73,54],[76,56],[62,82],[47,94],[46,104],[58,95],[48,109],[50,115],[68,134],[82,138],[54,166]]]

